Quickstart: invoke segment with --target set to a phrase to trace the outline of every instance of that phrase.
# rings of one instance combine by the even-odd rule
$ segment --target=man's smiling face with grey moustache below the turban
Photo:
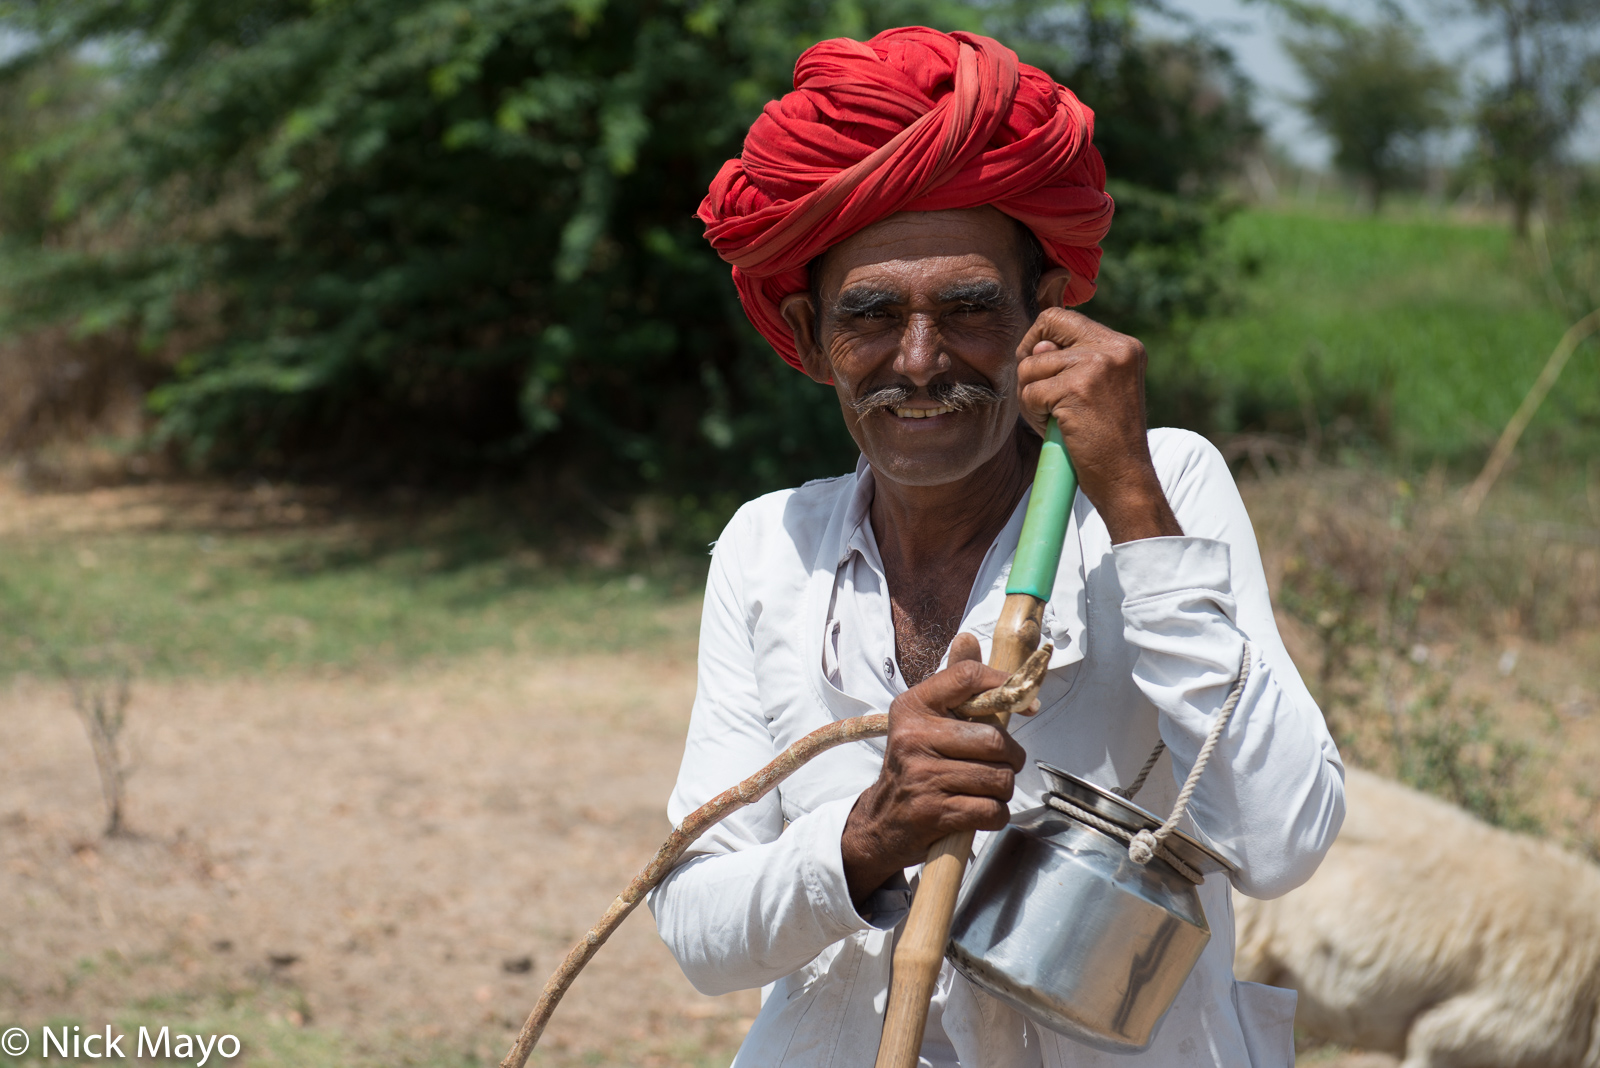
[[[1022,270],[1018,225],[994,208],[890,216],[827,251],[802,353],[882,476],[952,483],[1011,440]]]

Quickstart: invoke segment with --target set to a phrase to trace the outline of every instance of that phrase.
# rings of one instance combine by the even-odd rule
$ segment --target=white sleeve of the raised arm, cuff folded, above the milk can
[[[1134,683],[1160,710],[1182,782],[1238,679],[1250,681],[1189,804],[1195,825],[1238,865],[1234,886],[1277,897],[1312,876],[1344,822],[1344,766],[1290,660],[1256,534],[1222,456],[1198,435],[1157,462],[1184,537],[1114,548]]]

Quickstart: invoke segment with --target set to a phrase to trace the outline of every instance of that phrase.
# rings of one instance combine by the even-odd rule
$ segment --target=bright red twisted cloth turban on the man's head
[[[806,289],[813,257],[898,211],[994,205],[1072,272],[1067,304],[1094,296],[1112,200],[1093,136],[1094,112],[989,37],[827,40],[762,109],[699,217],[744,312],[798,368],[778,304]]]

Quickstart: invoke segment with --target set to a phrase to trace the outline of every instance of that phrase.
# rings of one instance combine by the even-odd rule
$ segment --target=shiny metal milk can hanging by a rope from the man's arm
[[[1158,817],[1038,767],[1045,806],[1016,814],[989,841],[962,891],[947,956],[1035,1023],[1139,1052],[1211,940],[1198,883],[1230,865],[1173,827],[1146,836],[1154,855],[1136,863],[1128,839],[1162,828]]]

